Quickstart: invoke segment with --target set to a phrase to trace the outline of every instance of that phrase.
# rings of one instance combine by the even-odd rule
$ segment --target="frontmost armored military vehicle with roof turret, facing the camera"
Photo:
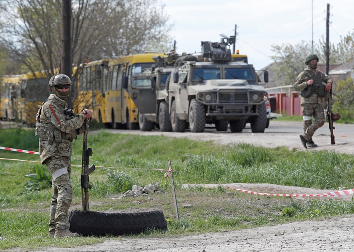
[[[233,62],[229,41],[202,42],[202,58],[174,69],[168,86],[168,111],[172,130],[204,132],[207,123],[217,131],[241,132],[250,122],[253,133],[263,133],[267,123],[267,92],[259,85],[254,67]],[[268,73],[264,74],[268,82]],[[266,97],[266,99],[264,99]]]

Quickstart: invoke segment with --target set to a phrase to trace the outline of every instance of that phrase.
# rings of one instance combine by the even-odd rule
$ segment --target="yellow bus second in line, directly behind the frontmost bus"
[[[84,108],[90,109],[94,118],[102,123],[107,123],[104,114],[104,83],[108,78],[108,63],[109,59],[101,59],[84,65],[78,75],[78,95],[74,101],[75,112],[80,113]]]

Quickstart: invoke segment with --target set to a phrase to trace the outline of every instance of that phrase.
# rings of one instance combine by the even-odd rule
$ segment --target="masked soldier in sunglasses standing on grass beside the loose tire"
[[[50,96],[44,101],[36,116],[36,136],[39,137],[39,153],[52,178],[53,196],[50,205],[48,236],[77,237],[69,231],[68,210],[73,198],[70,183],[70,158],[72,141],[84,120],[93,119],[92,111],[84,109],[74,115],[67,109],[66,98],[71,89],[71,80],[64,74],[56,74],[49,80]]]

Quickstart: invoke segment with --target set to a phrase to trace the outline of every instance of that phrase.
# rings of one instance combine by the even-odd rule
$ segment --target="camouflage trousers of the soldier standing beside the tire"
[[[73,189],[70,182],[70,158],[63,156],[50,157],[45,162],[52,175],[53,196],[50,204],[49,231],[69,229],[68,210],[73,199]],[[67,173],[58,175],[60,169],[67,169]],[[57,172],[57,173],[55,173]]]

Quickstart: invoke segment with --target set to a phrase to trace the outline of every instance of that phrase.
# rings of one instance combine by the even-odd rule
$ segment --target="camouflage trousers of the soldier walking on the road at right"
[[[312,136],[324,124],[323,104],[302,104],[303,130],[307,141],[312,141]],[[315,119],[312,123],[312,117]]]

